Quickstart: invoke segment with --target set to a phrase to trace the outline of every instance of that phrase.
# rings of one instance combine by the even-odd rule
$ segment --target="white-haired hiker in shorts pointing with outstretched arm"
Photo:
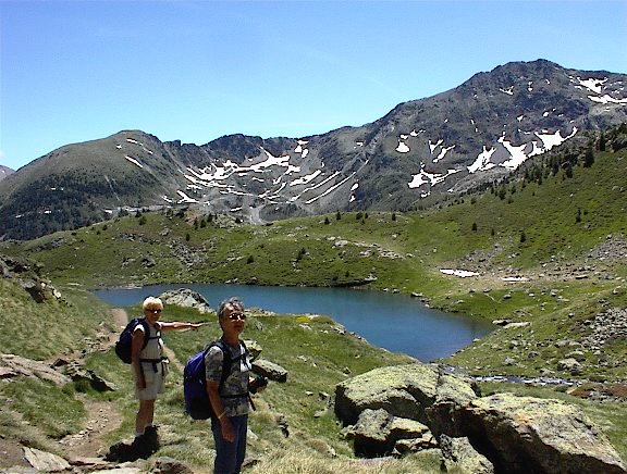
[[[146,435],[157,434],[152,425],[157,395],[165,389],[168,359],[163,357],[162,330],[193,329],[202,324],[160,322],[163,302],[159,298],[148,297],[142,304],[145,322],[133,329],[131,346],[131,364],[135,377],[135,397],[139,400],[139,411],[135,417],[135,441],[140,448]],[[146,334],[147,330],[147,334]],[[139,446],[137,446],[139,445]]]

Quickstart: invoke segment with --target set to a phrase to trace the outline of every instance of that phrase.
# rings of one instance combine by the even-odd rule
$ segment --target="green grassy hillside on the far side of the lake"
[[[532,322],[514,338],[550,346],[581,337],[586,321],[604,308],[625,308],[627,149],[598,148],[605,150],[594,152],[591,166],[580,160],[556,169],[556,160],[577,155],[561,151],[485,192],[425,212],[335,213],[266,226],[192,210],[146,212],[7,250],[36,258],[54,282],[83,288],[369,282],[370,288],[421,294],[445,311]],[[480,276],[458,278],[443,269]],[[504,280],[512,277],[518,280]],[[504,363],[519,346],[491,349],[496,345],[487,339],[453,362],[471,371],[539,373],[538,360]],[[623,352],[611,349],[620,361]],[[544,352],[553,366],[565,351]],[[611,365],[587,365],[582,375],[625,377],[625,364]]]

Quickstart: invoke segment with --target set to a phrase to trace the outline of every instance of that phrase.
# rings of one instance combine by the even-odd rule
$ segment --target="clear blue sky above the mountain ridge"
[[[512,61],[627,73],[627,0],[0,0],[0,164],[359,126]]]

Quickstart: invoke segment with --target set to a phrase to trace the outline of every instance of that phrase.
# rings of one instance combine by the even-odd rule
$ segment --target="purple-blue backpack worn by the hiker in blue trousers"
[[[244,347],[244,357],[248,356],[248,349],[246,345],[241,340],[239,344]],[[185,369],[183,370],[183,395],[185,397],[185,411],[193,420],[207,420],[216,419],[217,415],[213,412],[213,407],[209,401],[209,396],[207,395],[207,379],[205,373],[205,356],[207,351],[212,347],[219,347],[222,351],[222,376],[220,377],[220,386],[218,391],[224,386],[224,381],[231,375],[231,367],[233,363],[239,361],[241,356],[232,359],[231,351],[224,347],[222,340],[214,340],[200,352],[192,356]],[[248,394],[243,394],[248,396]],[[241,397],[242,395],[236,395],[233,397]],[[226,396],[229,397],[229,396]]]

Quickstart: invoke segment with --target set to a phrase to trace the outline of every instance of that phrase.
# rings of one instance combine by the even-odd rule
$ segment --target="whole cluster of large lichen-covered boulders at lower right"
[[[362,456],[403,452],[402,446],[413,445],[415,431],[391,429],[394,419],[402,417],[425,424],[440,440],[443,465],[455,458],[463,472],[466,460],[452,453],[477,451],[471,463],[482,466],[478,472],[490,472],[490,465],[495,473],[512,474],[627,472],[616,450],[578,407],[512,394],[481,397],[470,379],[433,365],[379,367],[345,381],[335,389],[335,413],[353,425],[346,432]],[[378,423],[366,428],[369,419]],[[374,425],[379,428],[373,431]],[[464,448],[462,438],[471,450]]]

